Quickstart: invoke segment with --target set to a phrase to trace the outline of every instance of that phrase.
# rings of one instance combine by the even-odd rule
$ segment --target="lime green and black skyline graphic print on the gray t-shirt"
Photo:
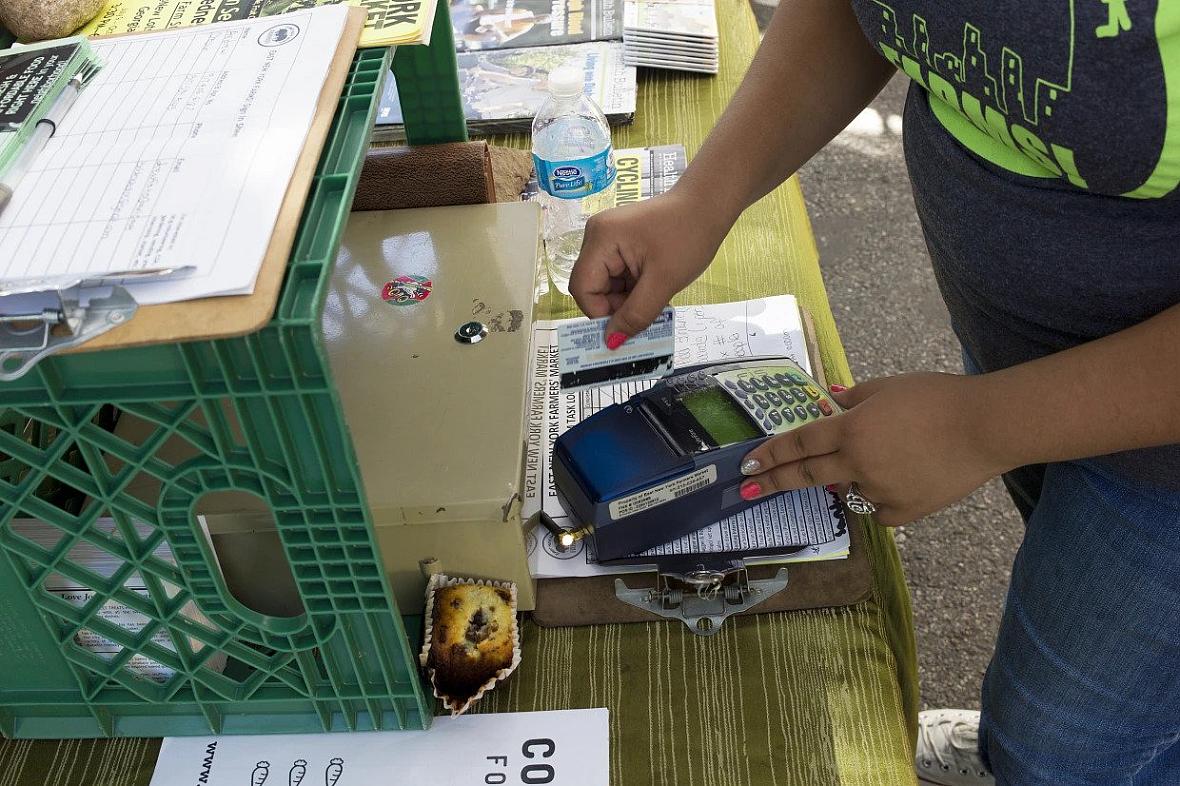
[[[853,0],[938,122],[1010,172],[1109,196],[1180,185],[1180,0]]]

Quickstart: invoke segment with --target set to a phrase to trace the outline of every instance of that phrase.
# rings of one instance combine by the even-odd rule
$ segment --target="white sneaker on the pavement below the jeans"
[[[995,786],[979,756],[979,713],[931,709],[918,714],[918,782],[930,786]]]

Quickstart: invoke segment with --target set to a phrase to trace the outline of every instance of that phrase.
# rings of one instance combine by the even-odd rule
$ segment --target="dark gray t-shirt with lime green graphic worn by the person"
[[[984,371],[1180,303],[1180,0],[852,6],[912,79],[914,202],[955,330]],[[1110,371],[1068,406],[1107,417],[1122,389]],[[1180,445],[1099,463],[1180,490]]]

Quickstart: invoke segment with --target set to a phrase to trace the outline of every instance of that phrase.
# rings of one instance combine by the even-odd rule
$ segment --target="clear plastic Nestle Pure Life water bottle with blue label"
[[[615,205],[610,126],[586,97],[581,70],[550,72],[549,100],[532,122],[532,159],[545,210],[549,276],[568,295],[586,221]]]

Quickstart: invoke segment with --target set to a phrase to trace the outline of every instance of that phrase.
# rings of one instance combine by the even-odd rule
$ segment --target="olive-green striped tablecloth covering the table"
[[[746,2],[717,0],[717,77],[641,76],[636,120],[616,131],[617,146],[683,143],[689,155],[700,148],[759,42]],[[811,312],[828,378],[850,381],[795,181],[747,211],[677,302],[779,293],[795,294]],[[572,314],[566,300],[544,307],[546,316]],[[866,546],[872,596],[851,608],[743,617],[709,638],[680,623],[525,622],[523,664],[478,712],[610,708],[615,786],[913,782],[918,685],[909,600],[890,535],[868,528]],[[155,740],[0,742],[0,786],[145,786],[157,749]]]

